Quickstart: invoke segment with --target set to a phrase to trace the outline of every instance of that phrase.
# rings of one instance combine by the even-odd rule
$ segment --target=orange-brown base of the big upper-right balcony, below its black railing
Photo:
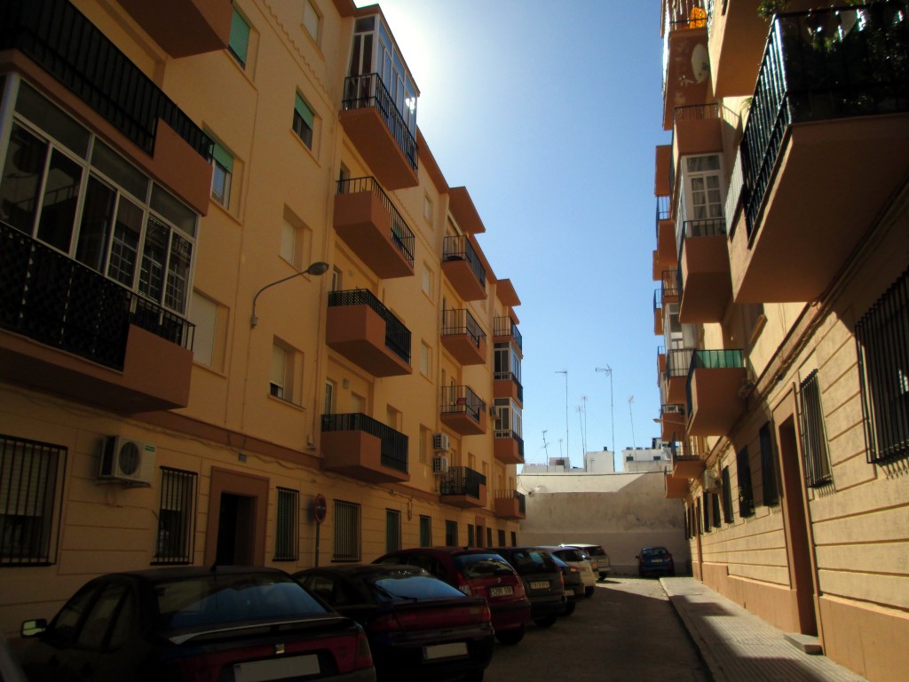
[[[909,114],[793,125],[750,248],[734,234],[735,302],[818,300],[907,171]]]

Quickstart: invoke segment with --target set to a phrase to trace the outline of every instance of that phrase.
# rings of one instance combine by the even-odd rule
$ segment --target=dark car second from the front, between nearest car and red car
[[[423,568],[329,566],[294,578],[364,627],[379,679],[478,682],[492,660],[486,600],[468,597]]]

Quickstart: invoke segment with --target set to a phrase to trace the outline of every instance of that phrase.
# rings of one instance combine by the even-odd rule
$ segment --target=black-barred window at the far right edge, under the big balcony
[[[909,270],[855,325],[871,463],[909,455]]]

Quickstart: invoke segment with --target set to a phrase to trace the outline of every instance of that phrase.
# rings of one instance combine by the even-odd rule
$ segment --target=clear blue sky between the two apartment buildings
[[[561,439],[582,466],[584,440],[612,449],[611,412],[615,449],[633,432],[650,446],[654,147],[670,139],[660,3],[379,5],[420,88],[417,125],[448,184],[467,187],[486,226],[477,241],[521,298],[525,460],[544,462],[545,429],[549,456]],[[594,371],[605,366],[612,408],[610,379]]]

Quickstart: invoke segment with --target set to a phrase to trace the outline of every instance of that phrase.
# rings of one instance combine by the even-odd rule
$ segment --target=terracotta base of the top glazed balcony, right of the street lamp
[[[339,119],[372,175],[385,189],[404,189],[419,184],[416,171],[374,106],[342,111]]]

